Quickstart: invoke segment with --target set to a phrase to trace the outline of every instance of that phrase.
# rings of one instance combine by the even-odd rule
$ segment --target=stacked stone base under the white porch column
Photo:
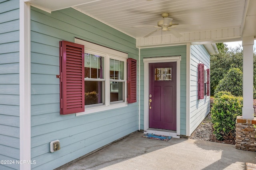
[[[256,152],[256,117],[254,119],[243,119],[236,117],[236,149]]]

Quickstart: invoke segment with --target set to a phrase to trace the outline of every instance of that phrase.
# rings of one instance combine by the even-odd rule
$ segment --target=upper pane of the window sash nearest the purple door
[[[124,80],[124,62],[110,59],[110,79]]]

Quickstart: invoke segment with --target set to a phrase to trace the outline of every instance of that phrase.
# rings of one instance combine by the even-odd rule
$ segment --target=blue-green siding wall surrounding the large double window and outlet
[[[138,102],[76,116],[60,115],[59,41],[74,38],[138,59],[136,40],[72,8],[51,14],[31,8],[31,156],[33,169],[54,169],[138,130]],[[50,152],[50,142],[61,149]]]

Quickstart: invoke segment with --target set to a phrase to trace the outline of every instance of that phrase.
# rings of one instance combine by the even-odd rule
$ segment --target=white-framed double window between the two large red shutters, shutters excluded
[[[77,115],[127,106],[128,55],[81,39],[75,43],[84,45],[85,53],[85,111]]]

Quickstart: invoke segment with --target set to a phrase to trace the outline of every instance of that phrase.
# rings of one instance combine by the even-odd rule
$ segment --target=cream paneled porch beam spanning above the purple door
[[[225,29],[214,29],[208,31],[198,31],[183,33],[180,38],[174,35],[164,35],[158,37],[137,38],[137,48],[164,47],[170,45],[182,45],[186,43],[206,44],[224,41],[241,41],[241,27],[232,27]]]

